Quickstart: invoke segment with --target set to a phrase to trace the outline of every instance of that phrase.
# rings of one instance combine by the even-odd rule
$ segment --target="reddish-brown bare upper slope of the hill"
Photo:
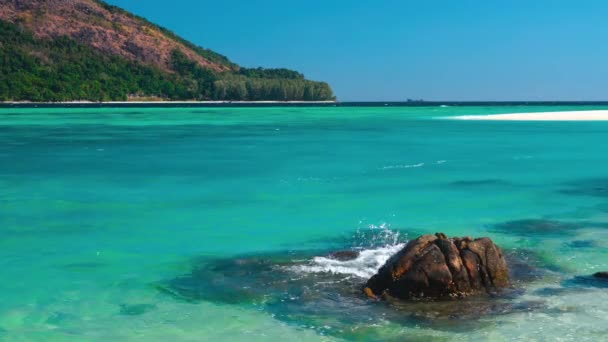
[[[38,38],[68,36],[112,55],[171,70],[174,50],[216,71],[234,66],[223,56],[195,47],[143,18],[95,0],[2,0],[0,19],[21,23]],[[215,60],[211,60],[215,59]]]

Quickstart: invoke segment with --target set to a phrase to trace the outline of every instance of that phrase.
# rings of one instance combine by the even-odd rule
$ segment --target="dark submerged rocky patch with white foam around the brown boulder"
[[[551,272],[545,260],[527,249],[505,251],[512,284],[495,296],[433,302],[391,300],[387,296],[382,303],[372,303],[362,294],[362,286],[389,255],[403,249],[404,241],[376,229],[358,232],[352,240],[340,236],[328,241],[334,245],[338,245],[336,241],[343,241],[339,245],[343,249],[195,258],[190,271],[159,281],[156,288],[180,302],[253,305],[281,322],[314,326],[318,333],[340,340],[389,339],[387,324],[403,326],[408,332],[421,328],[467,333],[494,324],[490,316],[530,312],[553,315],[571,310],[570,307],[549,307],[546,300],[530,301],[520,297],[524,291],[522,285]],[[361,248],[362,245],[366,248]],[[551,268],[554,269],[552,265]],[[577,286],[575,290],[580,293],[581,289]],[[539,295],[554,295],[552,289],[546,290]],[[128,303],[120,307],[120,313],[146,315],[157,309],[145,303]],[[401,333],[391,340],[399,339],[403,340]]]

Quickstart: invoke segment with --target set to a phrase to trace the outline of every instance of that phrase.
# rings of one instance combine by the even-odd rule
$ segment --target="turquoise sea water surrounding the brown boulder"
[[[449,119],[585,109],[2,108],[0,340],[605,340],[608,122]],[[435,232],[529,265],[517,294],[361,295]]]

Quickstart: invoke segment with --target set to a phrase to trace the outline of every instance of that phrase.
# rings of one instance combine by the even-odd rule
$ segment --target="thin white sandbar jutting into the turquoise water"
[[[608,110],[462,115],[449,117],[449,119],[494,121],[608,121]]]

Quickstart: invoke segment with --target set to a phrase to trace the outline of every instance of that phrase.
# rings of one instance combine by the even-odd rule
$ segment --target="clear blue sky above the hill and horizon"
[[[108,0],[351,100],[608,100],[605,0]]]

